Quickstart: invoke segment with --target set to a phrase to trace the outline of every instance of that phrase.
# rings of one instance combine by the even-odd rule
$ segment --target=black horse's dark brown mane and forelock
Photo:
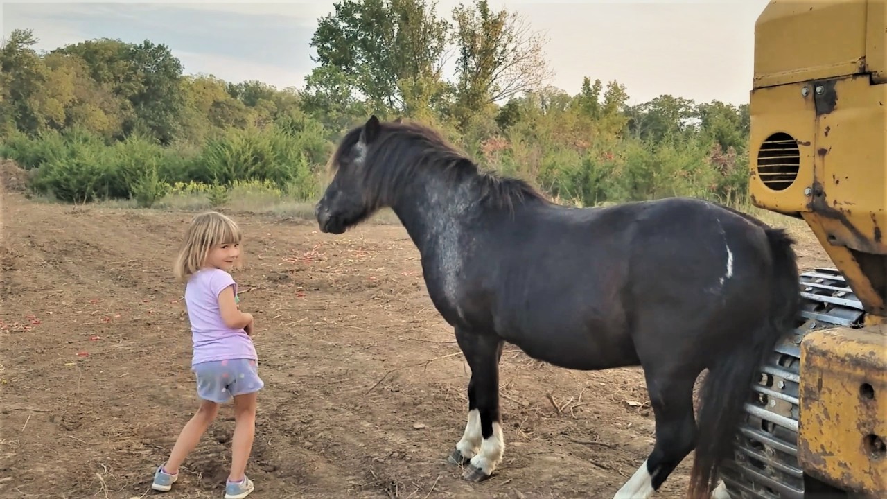
[[[364,171],[367,186],[382,199],[391,199],[403,184],[419,169],[443,170],[452,179],[462,176],[475,178],[481,187],[481,201],[511,209],[514,202],[536,200],[548,202],[545,195],[522,178],[499,175],[481,170],[468,154],[454,147],[436,130],[406,122],[380,123],[380,131],[371,143]],[[357,145],[362,126],[358,126],[341,140],[341,145],[330,158],[330,167],[338,168],[341,154]]]

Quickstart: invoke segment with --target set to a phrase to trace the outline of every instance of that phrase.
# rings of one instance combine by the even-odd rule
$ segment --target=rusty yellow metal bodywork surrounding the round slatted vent
[[[887,315],[887,85],[844,76],[752,91],[751,202],[799,213],[867,313]],[[797,140],[797,178],[782,190],[758,165],[765,139]]]

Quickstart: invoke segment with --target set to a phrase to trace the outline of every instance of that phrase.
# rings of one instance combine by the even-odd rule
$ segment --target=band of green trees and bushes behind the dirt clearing
[[[184,75],[148,40],[45,53],[37,41],[20,28],[0,48],[0,155],[64,201],[150,206],[172,186],[244,181],[312,200],[335,142],[373,113],[431,124],[561,202],[746,198],[747,105],[661,95],[632,106],[623,84],[591,77],[570,95],[548,84],[546,38],[484,0],[448,14],[425,0],[341,0],[318,20],[302,89]]]

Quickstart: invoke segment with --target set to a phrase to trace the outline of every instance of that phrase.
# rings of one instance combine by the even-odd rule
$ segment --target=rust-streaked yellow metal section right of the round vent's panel
[[[887,85],[866,76],[809,83],[815,109],[805,221],[867,313],[887,314]]]

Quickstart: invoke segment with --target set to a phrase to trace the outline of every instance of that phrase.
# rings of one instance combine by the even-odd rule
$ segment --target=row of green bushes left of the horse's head
[[[150,207],[174,184],[207,186],[212,206],[230,198],[232,186],[268,183],[281,194],[307,200],[319,194],[318,166],[329,144],[313,122],[267,130],[231,129],[203,147],[162,147],[130,135],[106,145],[89,132],[14,132],[0,143],[0,156],[34,170],[31,189],[64,202],[134,199]],[[313,161],[313,162],[312,162]]]

